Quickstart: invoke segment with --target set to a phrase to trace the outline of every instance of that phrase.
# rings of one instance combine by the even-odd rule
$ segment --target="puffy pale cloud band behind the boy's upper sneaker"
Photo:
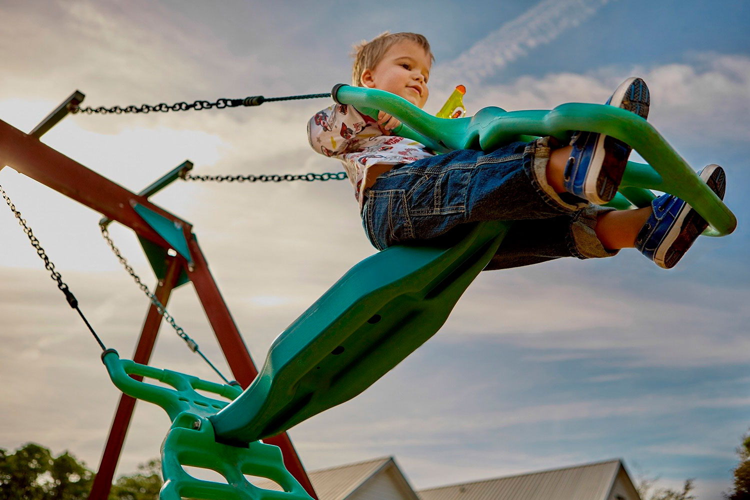
[[[604,103],[628,76],[641,76],[651,91],[649,122],[678,148],[718,148],[750,138],[750,57],[712,52],[650,67],[600,67],[584,74],[520,76],[504,85],[481,85],[464,102],[508,111],[552,109],[562,103]],[[697,168],[700,168],[698,166]]]

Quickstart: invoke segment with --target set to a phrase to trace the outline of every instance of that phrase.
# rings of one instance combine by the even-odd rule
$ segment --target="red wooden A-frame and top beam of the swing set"
[[[51,187],[58,193],[62,193],[100,212],[104,217],[116,220],[118,223],[129,227],[139,237],[163,247],[164,250],[169,250],[172,245],[154,231],[148,223],[145,223],[136,213],[133,205],[138,204],[148,208],[175,223],[175,227],[181,227],[193,262],[188,264],[187,260],[179,254],[176,256],[167,255],[166,274],[157,283],[154,295],[166,307],[169,295],[184,271],[193,283],[198,299],[234,378],[242,385],[242,388],[247,388],[258,374],[257,367],[250,352],[248,352],[248,347],[242,340],[229,309],[226,307],[216,281],[208,269],[205,256],[203,256],[196,239],[192,237],[190,223],[158,205],[154,205],[148,200],[148,196],[133,193],[40,142],[40,136],[64,118],[71,109],[74,109],[83,100],[83,97],[80,91],[71,94],[67,100],[63,101],[55,111],[51,112],[28,134],[0,120],[0,170],[4,166],[11,166],[17,172],[27,175],[34,181]],[[148,307],[133,354],[133,361],[136,363],[148,364],[161,325],[161,319],[157,307],[151,304]],[[90,500],[106,500],[110,493],[115,467],[122,451],[135,402],[136,400],[130,396],[122,394],[120,397],[99,470],[92,491],[89,493]],[[284,455],[284,466],[302,484],[308,494],[317,499],[307,472],[305,472],[302,461],[299,459],[287,433],[263,441],[281,448]]]

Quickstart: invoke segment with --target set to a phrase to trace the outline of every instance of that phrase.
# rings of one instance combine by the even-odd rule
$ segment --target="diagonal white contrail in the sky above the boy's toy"
[[[543,0],[505,22],[453,61],[439,65],[437,86],[467,82],[478,85],[538,46],[550,43],[592,16],[610,0]],[[438,76],[439,75],[439,76]]]

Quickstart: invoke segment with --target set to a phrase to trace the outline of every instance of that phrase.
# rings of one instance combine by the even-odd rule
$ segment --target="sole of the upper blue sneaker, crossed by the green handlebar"
[[[607,105],[627,109],[629,112],[644,119],[648,118],[649,104],[649,89],[646,87],[646,83],[636,76],[622,82],[616,88],[612,97],[607,100]],[[583,184],[584,197],[596,205],[604,205],[604,203],[608,203],[614,198],[619,183],[622,181],[622,175],[625,173],[625,166],[628,164],[627,155],[625,156],[625,160],[622,161],[606,161],[608,150],[613,145],[611,144],[612,142],[616,142],[616,145],[626,148],[628,154],[631,149],[630,146],[619,139],[607,137],[604,134],[598,136],[591,163],[601,162],[601,170],[599,175],[595,178],[587,178]]]

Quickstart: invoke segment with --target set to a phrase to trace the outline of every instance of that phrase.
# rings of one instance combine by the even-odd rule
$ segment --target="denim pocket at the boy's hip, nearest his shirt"
[[[366,219],[368,238],[378,250],[414,238],[406,190],[370,190]]]

